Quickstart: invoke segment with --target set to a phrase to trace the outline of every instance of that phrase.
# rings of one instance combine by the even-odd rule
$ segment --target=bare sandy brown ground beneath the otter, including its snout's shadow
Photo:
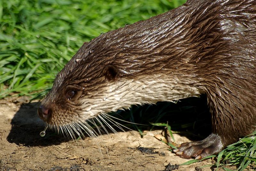
[[[161,171],[168,163],[188,161],[170,152],[166,144],[154,137],[161,134],[161,130],[145,132],[143,138],[138,132],[128,131],[93,139],[68,140],[49,130],[41,137],[39,133],[44,123],[37,116],[38,105],[38,102],[28,104],[26,97],[0,100],[0,170]],[[174,136],[178,144],[189,141],[186,137]],[[138,147],[154,150],[145,153]],[[176,170],[200,170],[196,167],[212,162],[208,159]]]

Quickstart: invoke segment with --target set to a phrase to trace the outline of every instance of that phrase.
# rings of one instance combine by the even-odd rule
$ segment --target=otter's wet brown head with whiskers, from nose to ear
[[[38,108],[38,115],[51,128],[65,131],[71,137],[75,137],[74,133],[83,135],[84,131],[94,136],[97,133],[86,120],[95,118],[89,120],[92,124],[105,122],[111,120],[106,119],[106,113],[132,105],[121,102],[132,94],[123,98],[127,87],[120,80],[132,73],[119,63],[127,67],[131,64],[125,62],[125,48],[117,46],[117,39],[111,39],[113,34],[116,35],[107,33],[84,43],[57,74],[51,91]]]

